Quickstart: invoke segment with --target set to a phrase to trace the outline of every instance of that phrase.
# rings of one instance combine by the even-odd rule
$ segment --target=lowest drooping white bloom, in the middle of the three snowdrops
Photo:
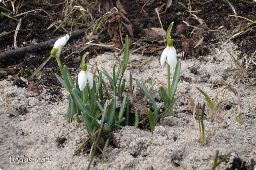
[[[93,88],[93,85],[94,85],[93,75],[90,72],[81,70],[81,72],[78,74],[77,79],[78,79],[79,89],[81,91],[85,89],[87,82],[89,83],[90,89]]]

